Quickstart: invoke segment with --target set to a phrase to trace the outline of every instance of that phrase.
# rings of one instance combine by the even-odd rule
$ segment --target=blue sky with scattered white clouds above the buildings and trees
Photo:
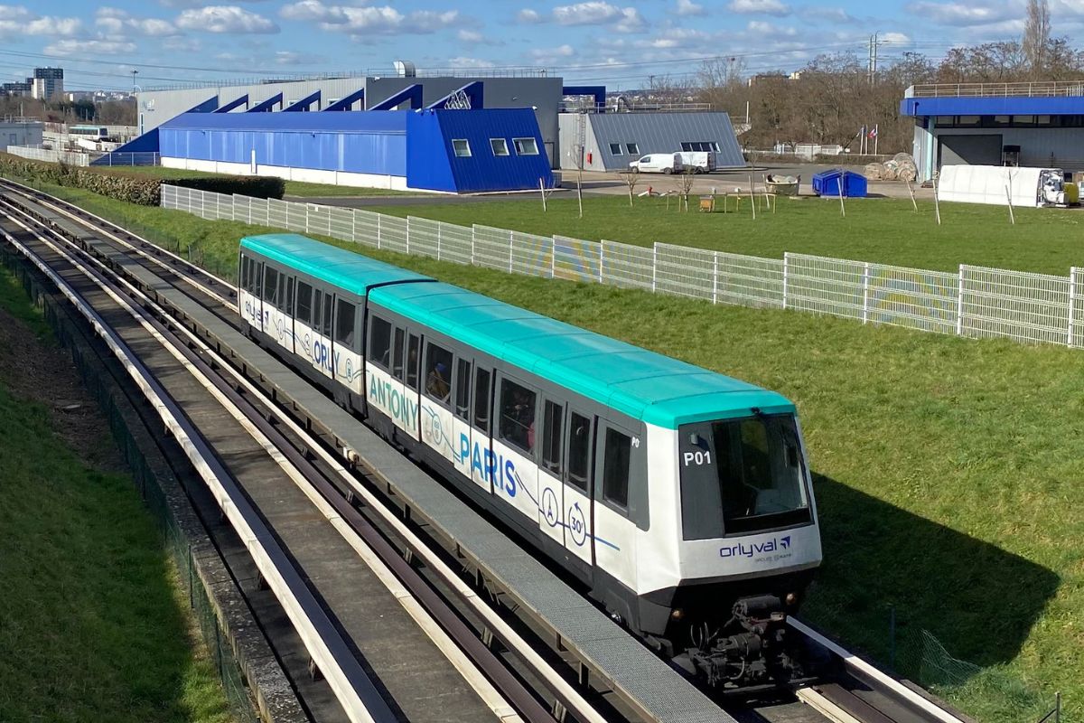
[[[217,4],[221,3],[221,4]],[[229,4],[227,4],[229,3]],[[420,68],[544,67],[611,89],[685,79],[705,59],[793,70],[820,53],[938,59],[1019,38],[1027,0],[36,0],[0,4],[0,79],[65,69],[68,90]],[[1084,39],[1084,2],[1049,0]]]

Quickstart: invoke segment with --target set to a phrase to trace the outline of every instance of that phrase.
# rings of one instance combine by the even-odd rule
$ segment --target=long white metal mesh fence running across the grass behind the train
[[[1068,276],[960,266],[956,273],[785,254],[782,259],[472,228],[361,209],[162,186],[162,205],[206,219],[332,236],[546,279],[758,308],[795,309],[968,337],[1084,348],[1084,268]]]

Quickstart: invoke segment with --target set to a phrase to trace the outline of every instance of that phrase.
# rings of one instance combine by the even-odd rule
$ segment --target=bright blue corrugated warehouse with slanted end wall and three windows
[[[530,108],[185,113],[158,137],[173,168],[450,193],[553,185]]]

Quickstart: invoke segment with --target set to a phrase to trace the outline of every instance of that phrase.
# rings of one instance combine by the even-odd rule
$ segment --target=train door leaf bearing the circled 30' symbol
[[[594,449],[594,418],[588,414],[568,410],[565,425],[565,465],[562,469],[564,482],[564,526],[565,547],[573,555],[594,565],[594,475],[592,450]]]

